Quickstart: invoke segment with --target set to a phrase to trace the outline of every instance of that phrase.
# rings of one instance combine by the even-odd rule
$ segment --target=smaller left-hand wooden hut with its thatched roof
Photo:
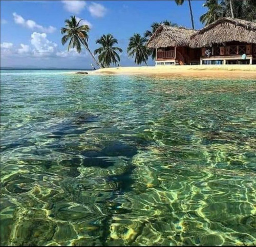
[[[190,36],[196,30],[161,25],[147,42],[156,49],[156,65],[199,64],[200,49],[189,48]]]

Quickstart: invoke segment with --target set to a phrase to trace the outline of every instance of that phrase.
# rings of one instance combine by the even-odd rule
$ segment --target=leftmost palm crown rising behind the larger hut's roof
[[[201,23],[209,25],[223,16],[223,7],[218,3],[218,0],[206,0],[203,7],[207,7],[208,11],[200,16]]]

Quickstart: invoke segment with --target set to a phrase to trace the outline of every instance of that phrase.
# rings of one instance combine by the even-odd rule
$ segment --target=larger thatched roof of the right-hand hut
[[[191,48],[211,47],[212,44],[239,41],[256,43],[256,23],[223,17],[191,35]]]

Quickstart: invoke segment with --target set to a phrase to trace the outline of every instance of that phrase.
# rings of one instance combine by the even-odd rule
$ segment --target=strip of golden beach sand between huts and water
[[[256,79],[256,65],[158,65],[104,68],[87,71],[94,75],[163,75],[210,78],[252,78]],[[72,72],[76,73],[76,72]]]

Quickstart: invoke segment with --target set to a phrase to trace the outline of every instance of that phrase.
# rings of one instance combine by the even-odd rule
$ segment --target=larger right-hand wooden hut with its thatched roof
[[[200,64],[256,63],[256,23],[223,17],[191,35],[191,48],[200,48]]]

